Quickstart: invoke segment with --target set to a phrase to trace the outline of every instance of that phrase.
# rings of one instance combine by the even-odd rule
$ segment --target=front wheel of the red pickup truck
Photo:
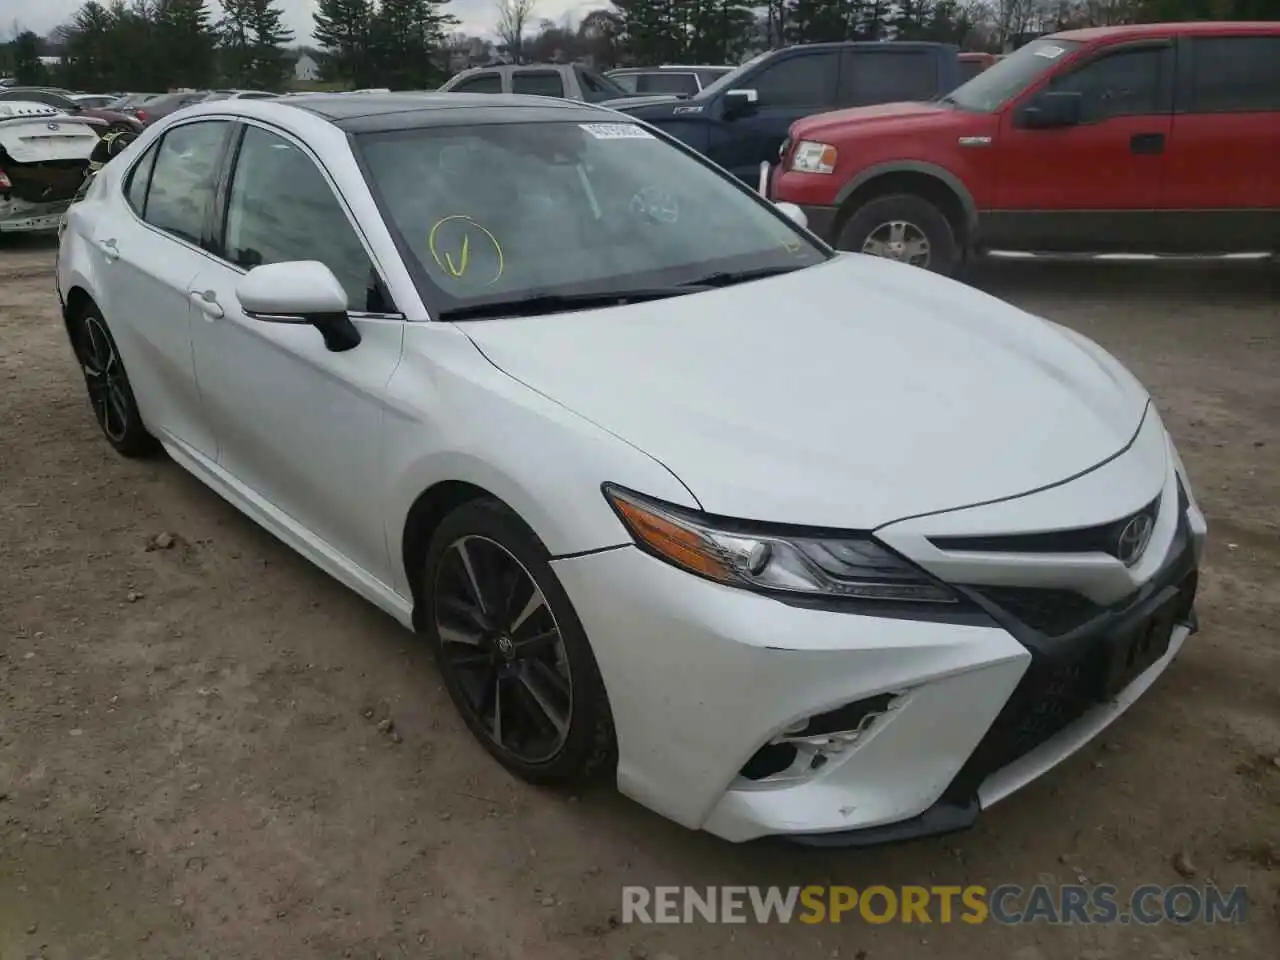
[[[845,223],[836,246],[940,274],[954,273],[959,260],[946,215],[910,193],[876,197],[860,206]]]

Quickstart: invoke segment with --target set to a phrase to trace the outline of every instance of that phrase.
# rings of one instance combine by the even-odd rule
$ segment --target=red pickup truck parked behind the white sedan
[[[945,97],[797,120],[769,183],[841,250],[1280,252],[1280,23],[1032,41]]]

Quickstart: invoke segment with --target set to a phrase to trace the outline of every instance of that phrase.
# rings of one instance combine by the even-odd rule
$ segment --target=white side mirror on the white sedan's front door
[[[250,270],[236,287],[244,315],[269,324],[310,324],[334,353],[360,343],[347,315],[347,292],[324,264],[298,260]]]

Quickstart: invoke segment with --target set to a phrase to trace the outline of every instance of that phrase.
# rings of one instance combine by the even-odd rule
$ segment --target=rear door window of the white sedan
[[[225,120],[204,120],[184,123],[165,133],[142,219],[191,243],[201,242],[229,128]]]

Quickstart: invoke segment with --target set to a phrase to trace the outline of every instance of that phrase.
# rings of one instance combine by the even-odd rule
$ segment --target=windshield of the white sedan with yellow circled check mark
[[[736,180],[634,123],[419,128],[364,134],[358,150],[440,315],[531,297],[689,292],[680,285],[827,259]]]

